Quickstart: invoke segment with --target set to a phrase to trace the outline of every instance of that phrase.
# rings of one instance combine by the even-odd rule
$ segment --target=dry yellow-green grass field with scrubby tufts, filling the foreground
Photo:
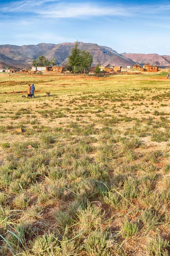
[[[0,75],[0,255],[170,255],[166,73]]]

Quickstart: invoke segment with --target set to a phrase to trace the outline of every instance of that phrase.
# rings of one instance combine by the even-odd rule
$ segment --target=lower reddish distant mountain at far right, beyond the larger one
[[[130,61],[137,62],[139,64],[150,63],[153,66],[159,67],[170,67],[170,56],[159,55],[156,53],[152,54],[142,54],[142,53],[122,53],[124,57],[128,58]]]

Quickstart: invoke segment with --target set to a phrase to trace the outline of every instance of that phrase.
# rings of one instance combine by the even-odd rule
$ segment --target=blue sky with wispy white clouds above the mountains
[[[0,44],[77,40],[170,55],[170,0],[0,0]]]

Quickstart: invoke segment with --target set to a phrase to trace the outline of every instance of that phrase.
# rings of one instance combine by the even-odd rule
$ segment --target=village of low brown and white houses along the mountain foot
[[[122,72],[125,72],[125,68],[122,71],[121,66],[113,66],[111,64],[108,64],[106,66],[99,66],[100,72],[105,74],[120,74]],[[89,75],[94,75],[95,67],[91,67],[90,71],[88,72]],[[141,67],[138,63],[136,63],[133,67],[127,66],[127,70],[138,70],[143,72],[158,72],[159,67],[153,66],[150,63],[144,64],[143,67]],[[126,71],[127,71],[126,70]],[[70,70],[64,70],[63,66],[48,66],[48,67],[32,67],[31,69],[22,69],[19,67],[8,67],[6,69],[0,69],[1,73],[44,73],[44,72],[55,72],[55,73],[72,73]],[[136,74],[136,73],[135,73]]]

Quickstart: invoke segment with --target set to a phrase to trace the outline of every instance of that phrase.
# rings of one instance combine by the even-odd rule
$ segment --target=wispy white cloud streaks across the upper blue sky
[[[162,14],[170,10],[170,5],[110,5],[93,2],[74,3],[61,0],[20,0],[3,5],[1,13],[31,12],[33,16],[46,18],[78,18],[78,17],[141,17]]]

